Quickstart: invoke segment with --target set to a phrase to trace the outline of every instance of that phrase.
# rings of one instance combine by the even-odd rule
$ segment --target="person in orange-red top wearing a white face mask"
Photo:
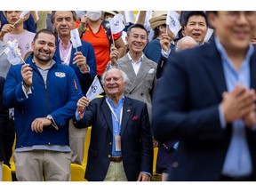
[[[110,46],[113,43],[107,20],[101,20],[102,11],[88,11],[81,19],[78,31],[82,40],[92,44],[96,56],[97,75],[102,76],[108,61],[110,60]],[[109,32],[108,32],[109,31]],[[118,58],[124,56],[125,46],[121,34],[114,35],[115,47],[118,51]]]

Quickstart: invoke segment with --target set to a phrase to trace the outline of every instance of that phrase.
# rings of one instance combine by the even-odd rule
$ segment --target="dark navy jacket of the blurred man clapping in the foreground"
[[[250,61],[256,89],[256,54]],[[156,140],[180,140],[169,180],[220,180],[231,124],[220,127],[218,106],[227,91],[220,52],[204,44],[169,58],[153,105]],[[255,175],[255,132],[246,129]]]

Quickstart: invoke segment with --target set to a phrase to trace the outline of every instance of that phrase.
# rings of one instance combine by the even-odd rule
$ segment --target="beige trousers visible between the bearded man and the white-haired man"
[[[84,159],[84,140],[87,129],[77,129],[72,119],[69,120],[69,146],[73,152],[71,162],[74,164],[83,163]]]

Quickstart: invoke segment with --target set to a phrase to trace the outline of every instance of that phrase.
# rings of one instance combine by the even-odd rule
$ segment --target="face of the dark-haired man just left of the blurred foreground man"
[[[188,24],[184,26],[183,35],[193,37],[196,42],[202,44],[207,33],[206,20],[201,15],[192,15],[188,18]]]

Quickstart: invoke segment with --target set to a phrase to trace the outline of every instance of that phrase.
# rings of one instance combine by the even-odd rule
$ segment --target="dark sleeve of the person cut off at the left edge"
[[[0,162],[5,160],[3,134],[8,127],[9,112],[3,104],[4,77],[0,76]]]

